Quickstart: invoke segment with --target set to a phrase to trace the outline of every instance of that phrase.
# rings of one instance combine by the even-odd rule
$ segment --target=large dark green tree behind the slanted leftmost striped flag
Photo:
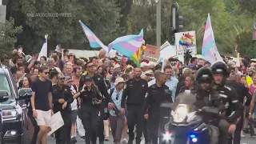
[[[25,48],[40,50],[44,35],[48,34],[52,50],[57,44],[63,48],[90,49],[78,21],[81,19],[107,44],[119,32],[119,11],[114,1],[105,0],[10,0],[9,16],[18,18],[16,26],[26,27],[18,41]]]

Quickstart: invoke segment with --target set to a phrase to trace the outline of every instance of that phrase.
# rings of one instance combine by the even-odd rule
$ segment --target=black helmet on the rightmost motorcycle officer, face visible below
[[[224,76],[228,76],[227,66],[224,62],[214,62],[211,66],[211,71],[214,74],[223,74]]]

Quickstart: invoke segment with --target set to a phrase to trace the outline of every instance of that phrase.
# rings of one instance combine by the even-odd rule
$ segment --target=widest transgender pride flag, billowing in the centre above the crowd
[[[120,54],[131,57],[143,43],[143,30],[138,35],[126,35],[114,40],[109,44],[109,50],[117,50]],[[108,50],[108,51],[109,51]]]

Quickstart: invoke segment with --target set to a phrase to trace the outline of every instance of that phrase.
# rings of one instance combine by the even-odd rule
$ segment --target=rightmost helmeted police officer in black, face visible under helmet
[[[211,66],[214,74],[214,90],[221,98],[223,110],[222,118],[218,122],[220,130],[220,143],[229,142],[229,133],[233,134],[236,129],[238,118],[242,115],[242,105],[238,102],[238,94],[234,88],[226,86],[226,78],[229,73],[224,62],[214,62]]]

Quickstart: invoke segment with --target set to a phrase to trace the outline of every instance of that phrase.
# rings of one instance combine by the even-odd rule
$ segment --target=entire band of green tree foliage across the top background
[[[146,43],[156,44],[155,0],[8,0],[6,18],[14,18],[14,26],[22,26],[18,42],[26,52],[40,50],[43,36],[49,35],[50,49],[90,49],[78,22],[82,20],[108,44],[125,34],[138,34],[144,29]],[[183,31],[196,31],[198,54],[201,54],[204,24],[210,14],[215,41],[222,54],[234,54],[235,46],[242,54],[250,54],[238,37],[251,33],[254,23],[254,0],[178,0],[178,13],[184,18]],[[162,0],[162,43],[169,37],[172,1]],[[33,14],[66,14],[66,16],[34,16]],[[248,31],[245,33],[240,30]],[[253,43],[248,37],[247,43]],[[14,44],[13,44],[14,45]]]

